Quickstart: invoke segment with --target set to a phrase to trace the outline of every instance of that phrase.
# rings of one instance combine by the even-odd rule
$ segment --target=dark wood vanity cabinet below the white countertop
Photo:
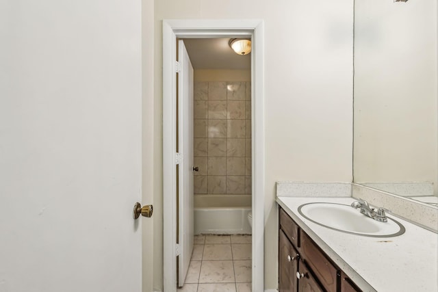
[[[280,292],[361,292],[283,209],[279,225]]]

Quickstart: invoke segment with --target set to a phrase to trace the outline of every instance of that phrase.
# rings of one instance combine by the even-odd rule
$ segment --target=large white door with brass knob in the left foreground
[[[141,1],[0,6],[0,291],[140,292]]]

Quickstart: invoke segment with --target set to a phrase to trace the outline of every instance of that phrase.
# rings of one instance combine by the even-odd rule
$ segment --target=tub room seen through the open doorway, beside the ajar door
[[[231,49],[231,40],[178,42],[194,69],[195,236],[183,278],[179,269],[181,291],[251,289],[251,62],[250,54]]]

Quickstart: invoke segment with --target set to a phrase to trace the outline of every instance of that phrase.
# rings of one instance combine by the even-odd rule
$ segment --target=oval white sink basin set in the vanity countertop
[[[313,223],[326,228],[368,237],[395,237],[404,233],[404,226],[388,217],[378,222],[350,205],[316,202],[302,204],[298,212]]]

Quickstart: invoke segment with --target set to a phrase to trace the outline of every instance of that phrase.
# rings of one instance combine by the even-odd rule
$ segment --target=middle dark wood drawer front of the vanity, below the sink
[[[301,233],[300,236],[301,257],[320,280],[322,286],[329,292],[336,292],[337,269],[307,234]]]

